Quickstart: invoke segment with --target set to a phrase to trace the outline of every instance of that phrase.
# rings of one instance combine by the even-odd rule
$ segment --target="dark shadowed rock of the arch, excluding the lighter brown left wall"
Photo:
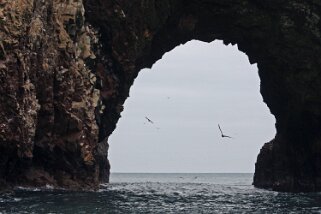
[[[100,28],[113,98],[103,97],[101,140],[139,70],[191,39],[238,44],[257,63],[277,134],[261,150],[254,185],[280,191],[320,190],[320,5],[299,1],[86,1]],[[106,66],[107,67],[107,66]]]

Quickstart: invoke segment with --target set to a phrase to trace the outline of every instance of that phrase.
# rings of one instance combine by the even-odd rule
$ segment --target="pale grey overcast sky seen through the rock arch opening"
[[[132,86],[109,139],[111,171],[254,172],[275,135],[259,85],[256,64],[237,46],[176,47]],[[218,123],[233,139],[221,138]]]

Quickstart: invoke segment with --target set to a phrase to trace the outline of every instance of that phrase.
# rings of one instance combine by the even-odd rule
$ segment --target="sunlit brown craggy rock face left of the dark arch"
[[[97,187],[100,92],[86,63],[100,43],[82,2],[2,0],[0,23],[2,186]]]

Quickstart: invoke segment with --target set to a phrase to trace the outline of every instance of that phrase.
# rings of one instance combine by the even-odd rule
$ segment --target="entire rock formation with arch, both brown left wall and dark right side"
[[[0,1],[3,185],[107,181],[108,136],[138,72],[221,39],[258,64],[276,117],[254,185],[321,191],[320,16],[317,0]]]

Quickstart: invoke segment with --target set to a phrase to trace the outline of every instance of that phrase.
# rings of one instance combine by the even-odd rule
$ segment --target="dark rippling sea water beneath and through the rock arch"
[[[0,213],[321,213],[321,193],[254,188],[253,174],[114,173],[97,192],[17,189]]]

